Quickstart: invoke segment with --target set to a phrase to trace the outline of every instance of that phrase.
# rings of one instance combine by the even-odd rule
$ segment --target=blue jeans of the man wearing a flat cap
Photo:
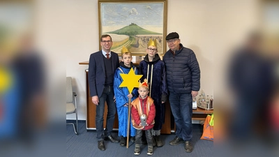
[[[193,98],[192,94],[176,94],[169,92],[169,103],[174,115],[176,124],[176,136],[185,141],[193,137],[192,115]]]

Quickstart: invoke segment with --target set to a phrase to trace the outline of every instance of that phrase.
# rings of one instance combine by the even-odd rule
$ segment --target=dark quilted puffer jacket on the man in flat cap
[[[200,70],[195,53],[182,44],[180,47],[175,54],[168,50],[163,57],[167,71],[167,87],[176,94],[199,91]]]

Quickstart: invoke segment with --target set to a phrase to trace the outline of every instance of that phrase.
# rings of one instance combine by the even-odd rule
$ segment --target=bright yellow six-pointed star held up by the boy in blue
[[[135,75],[133,68],[130,69],[128,74],[121,73],[120,75],[123,82],[119,85],[119,87],[127,87],[130,94],[132,93],[134,87],[139,87],[139,80],[142,75]]]

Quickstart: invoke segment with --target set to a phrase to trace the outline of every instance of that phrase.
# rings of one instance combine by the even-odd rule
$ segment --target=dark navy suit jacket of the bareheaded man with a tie
[[[115,73],[116,68],[119,67],[119,57],[115,52],[111,52],[111,55],[112,70]],[[105,63],[102,50],[90,55],[88,80],[90,96],[98,96],[100,98],[105,87]]]

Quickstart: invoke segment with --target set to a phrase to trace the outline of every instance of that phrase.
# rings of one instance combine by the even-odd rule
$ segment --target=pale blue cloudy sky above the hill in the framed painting
[[[102,3],[102,25],[163,27],[163,3]]]

